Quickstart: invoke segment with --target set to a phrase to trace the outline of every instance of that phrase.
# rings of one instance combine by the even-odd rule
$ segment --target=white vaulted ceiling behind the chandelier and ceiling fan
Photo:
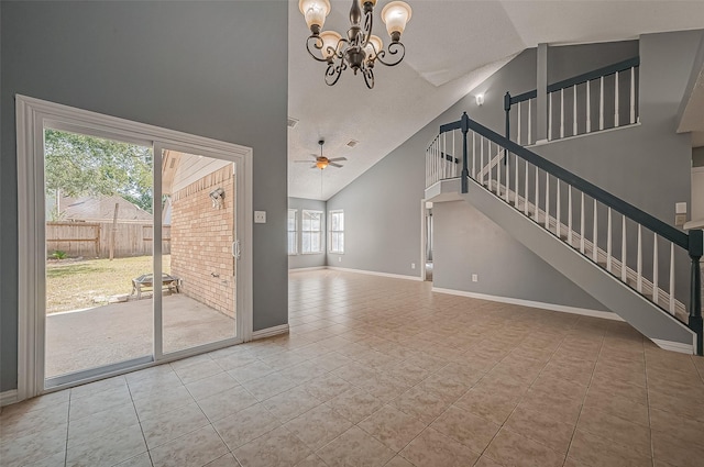
[[[406,0],[414,10],[402,41],[406,58],[378,65],[376,86],[346,70],[328,87],[326,65],[306,52],[310,34],[289,0],[288,194],[327,200],[525,48],[539,43],[623,41],[644,33],[704,27],[704,1],[472,1]],[[349,27],[350,0],[332,0],[324,30]],[[380,19],[374,32],[388,42]],[[343,168],[311,169],[310,154],[324,138],[327,157],[346,157]],[[356,140],[349,148],[345,144]]]

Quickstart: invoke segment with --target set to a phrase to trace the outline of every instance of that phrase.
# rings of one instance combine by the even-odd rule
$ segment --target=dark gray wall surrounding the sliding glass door
[[[253,147],[254,330],[286,323],[288,5],[3,1],[1,21],[0,390],[16,387],[15,93]]]

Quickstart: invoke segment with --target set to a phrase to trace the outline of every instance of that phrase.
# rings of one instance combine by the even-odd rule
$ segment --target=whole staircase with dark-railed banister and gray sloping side
[[[679,231],[466,113],[440,127],[426,176],[426,200],[472,203],[659,346],[702,355],[701,230]]]

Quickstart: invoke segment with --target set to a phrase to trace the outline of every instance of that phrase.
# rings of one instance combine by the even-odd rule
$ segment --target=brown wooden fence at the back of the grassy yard
[[[152,254],[154,226],[151,223],[118,222],[114,257]],[[170,225],[164,225],[162,251],[170,254]],[[69,257],[107,258],[110,256],[111,222],[47,222],[46,252],[65,252]]]

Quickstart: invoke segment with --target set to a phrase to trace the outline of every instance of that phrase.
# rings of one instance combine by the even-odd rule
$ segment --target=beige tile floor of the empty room
[[[704,459],[704,359],[616,321],[290,275],[290,335],[7,407],[11,466],[649,466]]]

